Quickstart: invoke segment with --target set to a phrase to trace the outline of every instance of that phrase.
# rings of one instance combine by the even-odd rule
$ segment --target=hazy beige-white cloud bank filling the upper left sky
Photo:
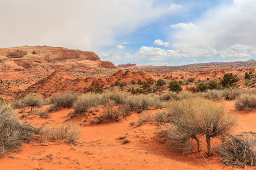
[[[95,51],[173,14],[170,2],[156,0],[1,1],[0,47],[50,45]]]

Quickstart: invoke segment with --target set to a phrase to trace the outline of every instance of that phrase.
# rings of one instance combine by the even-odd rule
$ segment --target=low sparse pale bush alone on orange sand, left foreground
[[[76,124],[71,124],[71,122],[66,122],[63,125],[45,125],[40,128],[40,141],[51,142],[63,140],[67,143],[76,144],[80,138],[80,128]]]

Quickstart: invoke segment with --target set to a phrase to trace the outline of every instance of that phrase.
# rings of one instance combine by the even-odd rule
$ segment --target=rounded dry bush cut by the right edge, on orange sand
[[[256,94],[242,94],[235,100],[237,109],[255,109],[256,108]]]

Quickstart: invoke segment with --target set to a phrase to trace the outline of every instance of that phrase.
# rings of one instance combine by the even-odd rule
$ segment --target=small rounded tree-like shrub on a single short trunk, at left
[[[28,94],[23,98],[24,107],[31,107],[30,112],[35,111],[35,107],[42,107],[44,100],[37,94]]]

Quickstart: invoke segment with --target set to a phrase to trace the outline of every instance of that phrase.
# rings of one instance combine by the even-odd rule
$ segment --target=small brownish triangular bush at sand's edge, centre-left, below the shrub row
[[[103,112],[100,113],[100,117],[98,117],[98,120],[100,122],[108,121],[108,120],[114,120],[119,121],[120,117],[123,115],[121,111],[119,111],[117,108],[115,108],[115,101],[110,100],[109,103],[106,105],[106,107],[103,109]]]

